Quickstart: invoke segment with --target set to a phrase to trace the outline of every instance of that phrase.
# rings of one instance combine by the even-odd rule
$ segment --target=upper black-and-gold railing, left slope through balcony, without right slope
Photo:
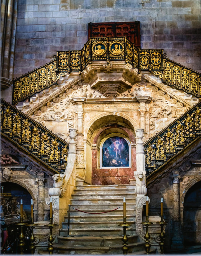
[[[163,69],[162,49],[138,49],[126,37],[90,38],[79,51],[57,51],[57,56],[13,81],[13,104],[56,83],[61,75],[81,73],[92,61],[125,61],[140,71]]]

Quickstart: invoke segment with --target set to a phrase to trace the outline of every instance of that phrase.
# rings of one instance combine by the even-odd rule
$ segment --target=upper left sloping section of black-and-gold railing
[[[24,101],[56,83],[56,56],[40,68],[13,80],[12,103]]]

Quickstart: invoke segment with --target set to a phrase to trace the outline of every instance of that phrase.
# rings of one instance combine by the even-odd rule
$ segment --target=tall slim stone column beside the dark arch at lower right
[[[182,249],[183,239],[181,236],[181,218],[180,218],[180,192],[179,192],[179,172],[173,171],[173,236],[172,249]]]

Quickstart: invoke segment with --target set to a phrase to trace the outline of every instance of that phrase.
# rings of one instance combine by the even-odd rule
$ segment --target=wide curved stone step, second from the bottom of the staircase
[[[62,237],[58,236],[58,243],[65,246],[111,246],[122,243],[122,236],[80,236],[80,237]],[[137,242],[138,236],[128,236],[128,243]]]

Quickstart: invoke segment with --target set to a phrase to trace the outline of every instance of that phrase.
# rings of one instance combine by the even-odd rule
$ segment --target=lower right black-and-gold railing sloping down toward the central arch
[[[164,165],[200,136],[201,102],[145,143],[147,175]]]

